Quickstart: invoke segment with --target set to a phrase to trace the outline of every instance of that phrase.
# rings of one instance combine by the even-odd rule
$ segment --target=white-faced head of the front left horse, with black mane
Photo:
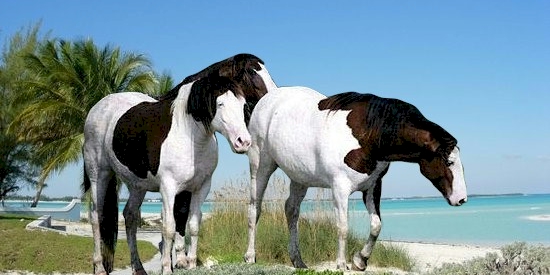
[[[245,153],[251,137],[244,120],[245,98],[233,80],[209,76],[195,81],[187,103],[187,113],[210,132],[221,133],[235,153]]]

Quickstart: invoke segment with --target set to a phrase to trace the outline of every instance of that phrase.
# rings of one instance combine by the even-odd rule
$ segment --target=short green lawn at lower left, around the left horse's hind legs
[[[0,272],[25,270],[34,273],[90,273],[93,241],[89,237],[62,235],[48,231],[28,231],[29,217],[0,216]],[[157,248],[138,241],[142,261],[151,259]],[[115,268],[130,265],[128,244],[117,242]]]

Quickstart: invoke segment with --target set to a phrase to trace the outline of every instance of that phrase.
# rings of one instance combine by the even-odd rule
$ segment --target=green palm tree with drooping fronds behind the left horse
[[[36,149],[41,173],[33,205],[53,171],[81,157],[84,121],[104,96],[122,91],[155,93],[158,86],[143,55],[99,49],[92,40],[48,40],[25,57],[32,79],[22,83],[17,103],[25,107],[10,130]]]

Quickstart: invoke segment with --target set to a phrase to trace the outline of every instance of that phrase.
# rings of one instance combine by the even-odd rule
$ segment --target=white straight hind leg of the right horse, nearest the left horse
[[[262,200],[269,177],[277,164],[267,155],[260,155],[257,146],[248,150],[250,162],[250,204],[248,206],[248,248],[244,254],[247,263],[256,262],[256,226],[262,212]]]

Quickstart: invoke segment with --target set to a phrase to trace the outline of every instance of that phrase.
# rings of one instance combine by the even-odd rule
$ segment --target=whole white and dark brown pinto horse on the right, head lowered
[[[427,120],[413,105],[354,92],[326,98],[305,87],[269,91],[256,105],[248,126],[251,200],[247,262],[255,261],[256,226],[270,175],[281,168],[290,178],[285,213],[289,253],[295,267],[301,259],[297,221],[308,187],[330,188],[338,228],[337,267],[346,269],[348,197],[363,193],[370,214],[370,236],[353,257],[353,269],[364,270],[380,234],[382,177],[390,162],[418,163],[420,172],[450,205],[466,202],[466,184],[456,139]]]

